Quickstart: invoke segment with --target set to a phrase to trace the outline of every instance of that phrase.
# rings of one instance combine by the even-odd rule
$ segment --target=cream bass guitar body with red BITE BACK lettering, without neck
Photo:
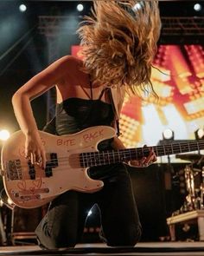
[[[87,168],[81,167],[80,153],[98,151],[100,141],[115,136],[114,128],[98,126],[66,136],[39,132],[47,154],[45,170],[25,159],[22,131],[17,131],[3,145],[3,184],[16,206],[41,207],[67,190],[93,193],[103,187],[103,181],[92,180]]]

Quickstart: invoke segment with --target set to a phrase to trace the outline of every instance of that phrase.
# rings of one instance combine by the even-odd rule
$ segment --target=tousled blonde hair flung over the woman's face
[[[155,94],[150,75],[160,30],[158,1],[93,0],[78,30],[86,71],[107,86]]]

